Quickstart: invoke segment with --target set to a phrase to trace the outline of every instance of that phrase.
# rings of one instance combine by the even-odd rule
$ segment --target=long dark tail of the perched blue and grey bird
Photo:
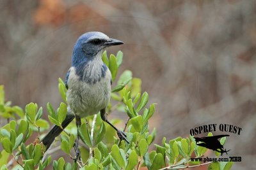
[[[72,120],[74,118],[75,118],[74,115],[68,114],[67,117],[65,118],[65,120],[61,124],[63,129],[65,129],[65,127],[67,127],[67,125],[70,124],[70,122],[72,122]],[[58,125],[54,125],[54,127],[52,127],[51,131],[48,132],[48,134],[42,139],[42,143],[46,147],[46,150],[51,146],[54,139],[60,135],[60,133],[63,131],[63,129],[61,129]]]

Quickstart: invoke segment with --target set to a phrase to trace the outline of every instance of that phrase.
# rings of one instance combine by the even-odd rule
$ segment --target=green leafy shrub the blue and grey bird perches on
[[[108,57],[104,52],[102,60],[109,67],[113,81],[116,80],[118,68],[122,63],[123,53],[111,54]],[[11,106],[10,102],[4,102],[4,89],[0,87],[0,114],[1,119],[8,123],[0,129],[0,141],[3,149],[0,154],[0,169],[45,169],[51,164],[51,155],[45,153],[45,148],[40,140],[49,129],[49,122],[61,127],[61,123],[67,115],[67,100],[64,82],[59,79],[59,91],[63,99],[57,110],[48,103],[49,121],[42,118],[44,113],[42,107],[38,108],[35,103],[29,103],[25,111],[19,106]],[[76,139],[76,126],[74,123],[68,125],[61,133],[60,145],[52,144],[50,150],[62,150],[71,159],[53,160],[53,169],[184,169],[191,164],[202,166],[201,162],[191,162],[191,157],[202,157],[207,151],[201,146],[196,146],[195,140],[190,138],[175,138],[166,141],[163,138],[161,145],[154,144],[156,129],[149,129],[148,120],[152,118],[155,111],[155,103],[148,104],[148,94],[141,95],[141,80],[133,78],[132,72],[125,70],[120,74],[115,87],[111,92],[111,103],[107,108],[109,114],[120,111],[127,114],[127,122],[124,131],[127,140],[120,141],[116,138],[116,132],[105,122],[100,115],[87,117],[79,129],[81,137],[81,161],[73,161],[75,155],[73,145]],[[46,113],[45,113],[46,115]],[[12,120],[11,120],[12,119]],[[112,120],[113,124],[120,120]],[[44,134],[42,134],[44,132]],[[211,135],[211,134],[209,134]],[[35,136],[38,136],[35,140]],[[33,142],[31,143],[31,140]],[[225,138],[221,139],[225,142]],[[219,156],[216,153],[216,156]],[[12,164],[12,162],[16,162]],[[72,162],[72,163],[70,163]],[[214,162],[209,169],[230,169],[232,162]]]

